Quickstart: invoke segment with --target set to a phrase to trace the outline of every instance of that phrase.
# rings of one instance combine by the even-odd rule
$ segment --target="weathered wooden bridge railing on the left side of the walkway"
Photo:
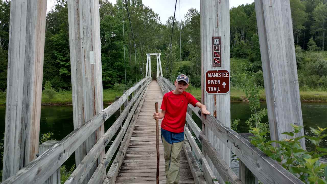
[[[129,90],[127,90],[117,101],[112,103],[109,107],[96,114],[85,124],[78,127],[73,132],[71,132],[68,136],[66,136],[57,144],[55,144],[51,149],[45,151],[37,159],[27,164],[26,167],[22,168],[15,175],[10,176],[7,180],[3,181],[2,183],[3,184],[21,184],[21,183],[43,184],[43,182],[47,180],[58,168],[60,168],[60,166],[69,158],[69,156],[71,156],[75,152],[75,150],[89,136],[91,136],[91,134],[95,132],[95,130],[97,130],[106,120],[110,118],[110,116],[112,116],[112,114],[114,114],[114,112],[116,112],[124,104],[124,102],[128,99],[130,94],[134,92],[135,95],[129,102],[128,105],[129,108],[131,107],[133,102],[135,101],[139,102],[142,99],[142,96],[145,94],[146,87],[148,86],[150,81],[151,81],[150,77],[146,77],[142,79],[136,85],[129,88]],[[135,93],[135,91],[139,89],[140,86],[142,86],[142,88],[137,93]],[[134,105],[135,108],[133,107],[133,110],[136,109],[137,104],[138,103],[135,103]],[[128,109],[128,107],[126,107],[126,109]],[[133,113],[130,113],[129,114],[130,116],[128,118],[131,118],[132,114]],[[86,160],[83,159],[81,164],[77,166],[77,169],[75,170],[76,172],[73,173],[74,175],[72,176],[74,178],[73,180],[71,180],[74,181],[72,183],[80,183],[78,177],[81,175],[81,173],[77,173],[77,171],[81,171],[84,168],[86,170],[89,170],[90,165],[93,165],[94,160],[97,159],[97,157],[96,159],[94,159],[94,157],[92,157],[91,155],[96,156],[97,153],[100,154],[101,151],[95,151],[95,150],[104,149],[105,145],[108,144],[112,136],[118,130],[118,125],[120,127],[120,124],[122,120],[126,117],[126,115],[127,115],[126,111],[121,114],[122,118],[118,118],[115,121],[115,123],[116,122],[117,123],[116,124],[114,123],[115,125],[112,125],[112,128],[108,130],[109,132],[107,131],[106,134],[100,138],[100,140],[103,140],[103,142],[101,142],[101,145],[100,143],[96,144],[95,147],[92,148],[91,151],[88,153],[88,155],[85,157]],[[126,122],[128,121],[126,120]],[[124,127],[124,129],[126,131],[127,127]],[[108,152],[106,154],[106,157],[108,156]],[[110,156],[108,156],[108,158],[109,157]],[[107,162],[108,159],[104,165],[106,165]],[[101,167],[101,165],[103,164],[99,164],[99,167]]]

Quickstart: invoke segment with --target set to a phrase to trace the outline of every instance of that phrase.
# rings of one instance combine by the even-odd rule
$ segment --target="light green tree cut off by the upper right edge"
[[[321,40],[322,38],[322,50],[324,50],[324,40],[327,22],[327,4],[318,4],[318,6],[313,10],[313,18],[315,23],[311,26],[312,33],[318,32],[316,40]]]

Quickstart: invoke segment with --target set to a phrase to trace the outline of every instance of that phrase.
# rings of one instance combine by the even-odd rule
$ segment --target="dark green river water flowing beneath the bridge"
[[[0,106],[0,133],[5,131],[5,108],[6,106]],[[261,103],[261,108],[267,108],[265,102]],[[232,102],[231,103],[231,118],[232,120],[239,118],[240,123],[237,127],[237,132],[248,132],[248,127],[245,121],[250,117],[249,104],[246,102]],[[313,133],[309,127],[327,127],[327,102],[302,102],[302,114],[303,124],[305,125],[305,135],[312,135]],[[201,128],[201,122],[194,115],[193,118]],[[105,122],[105,130],[107,130],[116,117],[113,115],[109,120]],[[266,117],[264,122],[268,121]],[[74,130],[73,127],[73,107],[72,106],[42,106],[41,108],[41,126],[40,135],[47,132],[53,132],[54,135],[51,138],[61,140]],[[113,139],[112,139],[113,140]],[[327,140],[323,140],[321,143],[323,147],[327,148]],[[109,143],[110,146],[110,143]],[[107,146],[108,147],[108,146]],[[313,145],[306,140],[306,147],[308,150],[313,149]],[[108,148],[107,148],[108,149]],[[236,156],[232,156],[231,167],[235,172],[238,170],[238,161]],[[74,154],[65,162],[67,167],[71,167],[75,163]]]

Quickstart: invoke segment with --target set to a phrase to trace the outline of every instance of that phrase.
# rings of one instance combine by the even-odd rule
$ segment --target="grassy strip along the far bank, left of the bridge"
[[[109,104],[115,101],[116,96],[121,96],[122,92],[117,92],[112,89],[103,90],[103,103]],[[42,93],[43,105],[66,105],[72,104],[72,92],[71,91],[59,91],[54,94],[52,98]],[[6,92],[0,92],[0,105],[6,104]]]

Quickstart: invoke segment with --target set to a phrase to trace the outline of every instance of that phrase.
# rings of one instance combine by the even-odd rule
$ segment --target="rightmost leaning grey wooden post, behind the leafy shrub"
[[[299,78],[289,0],[255,0],[271,140],[302,126]],[[304,131],[297,136],[303,136]],[[305,149],[304,138],[300,139]]]

